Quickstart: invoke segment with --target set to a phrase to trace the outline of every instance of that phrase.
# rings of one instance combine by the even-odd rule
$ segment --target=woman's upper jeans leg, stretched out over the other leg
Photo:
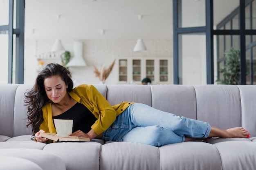
[[[135,103],[127,109],[135,126],[158,125],[173,131],[179,136],[185,135],[193,138],[206,138],[211,131],[211,126],[207,122],[176,116],[141,103]]]

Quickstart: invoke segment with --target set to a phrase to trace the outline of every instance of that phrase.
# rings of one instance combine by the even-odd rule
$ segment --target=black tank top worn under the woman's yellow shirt
[[[64,113],[58,116],[53,116],[52,118],[73,120],[72,133],[78,130],[88,133],[91,130],[92,124],[97,120],[92,112],[79,102]]]

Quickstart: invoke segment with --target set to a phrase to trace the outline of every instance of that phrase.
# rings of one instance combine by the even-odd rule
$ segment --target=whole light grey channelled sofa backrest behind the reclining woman
[[[221,129],[243,126],[256,135],[255,85],[94,85],[110,102],[140,102]],[[0,135],[31,134],[24,94],[32,85],[0,85]],[[255,93],[254,93],[255,92]],[[253,123],[252,123],[253,122]],[[253,134],[255,132],[255,134]]]

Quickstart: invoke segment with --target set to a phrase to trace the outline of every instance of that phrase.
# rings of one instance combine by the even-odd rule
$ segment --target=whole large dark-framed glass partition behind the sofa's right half
[[[184,39],[188,39],[190,35],[198,33],[203,33],[204,36],[200,38],[195,36],[190,40],[190,45],[187,45],[189,42],[184,42]],[[225,79],[226,77],[220,74],[219,69],[227,65],[225,52],[229,52],[231,48],[240,50],[239,83],[256,84],[256,76],[254,77],[256,37],[254,35],[256,35],[256,2],[254,0],[173,0],[174,84],[213,84],[217,79]],[[199,42],[198,39],[201,41]],[[195,44],[200,49],[195,47],[191,50],[191,46]],[[201,49],[203,44],[205,48]],[[200,50],[199,53],[202,56],[199,57],[200,60],[199,58],[192,60],[188,57],[193,56],[196,50]],[[188,51],[191,53],[188,54]],[[205,78],[198,78],[195,74],[189,76],[187,73],[188,70],[198,72],[199,68],[200,72],[206,72],[205,75],[199,74],[206,76]]]

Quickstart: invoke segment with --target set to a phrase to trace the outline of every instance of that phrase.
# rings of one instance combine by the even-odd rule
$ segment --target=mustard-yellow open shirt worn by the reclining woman
[[[92,114],[97,118],[91,126],[97,135],[106,131],[115,121],[116,117],[121,114],[128,106],[134,102],[122,102],[115,106],[104,98],[101,93],[93,85],[79,85],[68,94],[77,102],[85,105]],[[45,132],[56,133],[52,119],[52,102],[49,101],[43,108],[43,123],[40,129]]]

